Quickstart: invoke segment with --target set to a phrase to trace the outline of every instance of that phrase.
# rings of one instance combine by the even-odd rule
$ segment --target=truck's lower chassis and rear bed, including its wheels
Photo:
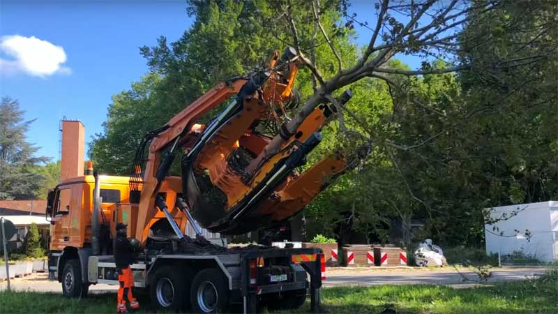
[[[52,251],[49,255],[52,278],[62,283],[68,297],[84,296],[89,285],[97,283],[119,285],[112,255],[68,259],[70,254]],[[242,313],[257,313],[261,306],[293,309],[306,301],[307,294],[311,311],[318,311],[325,278],[324,254],[317,248],[148,253],[130,267],[135,287],[149,291],[152,304],[195,313],[223,313],[230,306],[241,308]]]

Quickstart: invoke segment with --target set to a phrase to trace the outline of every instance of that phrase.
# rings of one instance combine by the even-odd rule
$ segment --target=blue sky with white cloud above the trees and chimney
[[[355,0],[350,11],[357,20],[373,17],[373,3]],[[61,119],[82,121],[89,142],[103,131],[111,96],[149,70],[139,48],[160,36],[171,43],[192,23],[178,0],[1,0],[0,96],[17,99],[25,119],[36,119],[27,133],[36,155],[58,160]],[[357,42],[367,43],[372,31],[355,30]]]

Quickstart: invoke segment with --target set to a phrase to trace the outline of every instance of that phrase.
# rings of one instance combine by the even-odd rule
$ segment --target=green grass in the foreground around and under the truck
[[[558,273],[476,289],[384,285],[322,290],[327,313],[558,313],[557,300]],[[0,313],[114,313],[115,309],[115,294],[93,294],[78,300],[52,293],[0,292]],[[309,310],[307,301],[296,313]],[[148,311],[153,310],[142,308],[142,313]]]

